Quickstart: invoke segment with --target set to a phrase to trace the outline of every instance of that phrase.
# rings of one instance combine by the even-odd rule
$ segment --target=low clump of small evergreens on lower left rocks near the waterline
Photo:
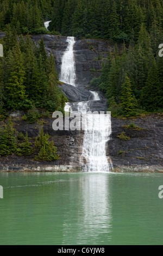
[[[15,154],[18,156],[32,156],[34,160],[54,161],[59,160],[57,147],[50,139],[48,133],[43,132],[43,121],[39,121],[39,135],[35,138],[24,136],[22,132],[18,133],[13,127],[11,117],[7,123],[0,129],[0,156]]]

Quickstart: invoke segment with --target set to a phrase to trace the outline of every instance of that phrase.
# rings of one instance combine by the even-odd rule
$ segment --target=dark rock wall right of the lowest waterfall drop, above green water
[[[130,122],[140,129],[124,127]],[[107,155],[111,157],[114,167],[144,166],[150,170],[151,166],[162,166],[163,170],[163,115],[151,114],[135,119],[111,118],[112,133],[107,143]],[[130,139],[124,141],[118,138],[122,132]]]

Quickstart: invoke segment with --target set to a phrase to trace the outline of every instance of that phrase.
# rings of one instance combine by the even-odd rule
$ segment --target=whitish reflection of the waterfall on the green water
[[[74,181],[74,177],[72,178]],[[74,199],[74,182],[70,182],[70,195]],[[109,191],[109,175],[92,173],[80,175],[78,202],[74,202],[73,217],[67,213],[63,225],[63,244],[70,244],[70,237],[76,237],[76,245],[104,245],[111,240],[112,214]],[[77,190],[76,190],[77,191]],[[71,200],[70,199],[70,200]],[[78,209],[76,209],[78,206]]]

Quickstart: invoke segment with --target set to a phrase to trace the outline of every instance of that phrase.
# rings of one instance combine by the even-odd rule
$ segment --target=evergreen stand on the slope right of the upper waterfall
[[[142,111],[162,111],[163,99],[163,59],[158,55],[157,36],[149,34],[145,24],[141,24],[137,42],[130,40],[129,47],[108,54],[102,64],[99,78],[91,83],[98,86],[115,115],[134,115]]]

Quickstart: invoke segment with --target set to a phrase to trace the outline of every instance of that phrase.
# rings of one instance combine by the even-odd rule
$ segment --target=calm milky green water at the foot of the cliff
[[[162,175],[0,173],[0,244],[161,245]]]

